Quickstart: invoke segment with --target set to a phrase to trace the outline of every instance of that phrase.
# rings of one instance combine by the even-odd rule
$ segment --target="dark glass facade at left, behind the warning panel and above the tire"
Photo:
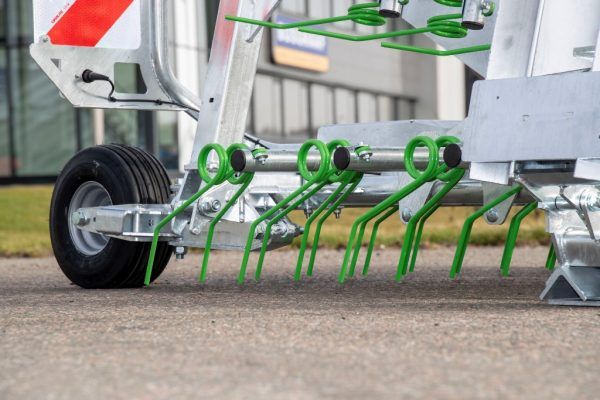
[[[78,150],[94,145],[93,111],[61,97],[29,55],[32,42],[32,1],[0,0],[0,183],[51,181]],[[135,93],[138,69],[121,67],[119,90]],[[105,143],[142,147],[178,169],[175,113],[109,110],[101,126]]]

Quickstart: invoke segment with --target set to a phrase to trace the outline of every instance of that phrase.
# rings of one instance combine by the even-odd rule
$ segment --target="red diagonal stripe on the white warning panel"
[[[48,32],[52,44],[94,47],[133,0],[77,0]]]

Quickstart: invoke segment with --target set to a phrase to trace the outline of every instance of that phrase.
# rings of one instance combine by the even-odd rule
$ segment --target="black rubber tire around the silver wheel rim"
[[[61,172],[50,205],[52,249],[63,273],[86,289],[134,288],[144,285],[149,243],[109,239],[94,256],[80,252],[69,233],[69,205],[85,182],[100,183],[115,205],[167,204],[170,181],[162,164],[142,149],[122,145],[88,148],[76,154]],[[171,258],[172,248],[159,243],[152,281]]]

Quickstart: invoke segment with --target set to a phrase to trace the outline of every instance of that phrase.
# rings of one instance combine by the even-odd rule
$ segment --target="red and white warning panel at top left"
[[[137,49],[143,0],[33,0],[36,41],[56,46]]]

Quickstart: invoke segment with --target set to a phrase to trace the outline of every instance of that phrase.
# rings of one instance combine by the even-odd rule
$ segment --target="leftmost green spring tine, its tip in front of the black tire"
[[[207,161],[208,157],[212,152],[217,154],[217,158],[219,160],[219,167],[216,174],[213,176],[210,175],[207,170]],[[187,201],[185,201],[181,206],[177,207],[175,211],[169,214],[166,218],[160,221],[156,228],[154,229],[154,235],[152,237],[152,245],[150,247],[150,255],[148,257],[148,265],[146,266],[146,276],[144,278],[144,285],[150,285],[150,281],[152,280],[152,269],[154,267],[154,257],[156,256],[156,248],[158,247],[158,239],[160,236],[160,232],[162,229],[173,220],[176,216],[184,212],[189,206],[191,206],[196,200],[202,197],[208,190],[211,188],[218,186],[225,182],[228,178],[229,166],[227,165],[227,153],[225,149],[218,144],[209,144],[202,148],[200,154],[198,155],[198,173],[200,174],[200,178],[206,183],[206,186],[200,189],[198,193],[190,197]]]

